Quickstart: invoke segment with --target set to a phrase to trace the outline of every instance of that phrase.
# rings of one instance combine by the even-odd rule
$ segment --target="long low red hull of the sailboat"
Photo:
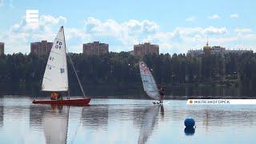
[[[34,104],[50,104],[50,105],[69,105],[69,106],[88,106],[90,98],[76,98],[63,100],[34,99]]]

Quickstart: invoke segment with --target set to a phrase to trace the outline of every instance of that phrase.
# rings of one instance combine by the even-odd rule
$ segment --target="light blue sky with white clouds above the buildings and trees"
[[[30,53],[30,42],[53,42],[64,26],[70,52],[82,43],[104,42],[110,51],[158,44],[160,53],[186,53],[210,46],[256,50],[254,0],[0,0],[0,42],[5,53]],[[26,22],[38,10],[39,26]]]

